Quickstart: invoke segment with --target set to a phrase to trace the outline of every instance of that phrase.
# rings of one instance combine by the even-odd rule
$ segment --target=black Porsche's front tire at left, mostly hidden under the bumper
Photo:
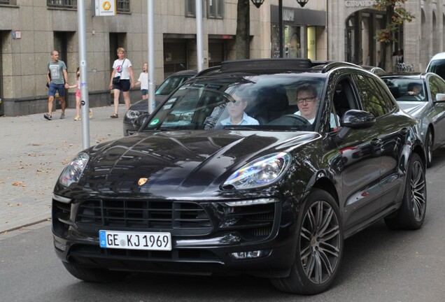
[[[109,283],[123,280],[128,275],[127,272],[108,271],[104,268],[85,268],[64,261],[62,261],[62,264],[71,275],[86,282]]]

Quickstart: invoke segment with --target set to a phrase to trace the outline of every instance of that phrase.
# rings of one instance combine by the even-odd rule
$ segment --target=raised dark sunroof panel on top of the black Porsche
[[[221,63],[221,72],[236,71],[301,71],[312,67],[310,59],[243,59]]]

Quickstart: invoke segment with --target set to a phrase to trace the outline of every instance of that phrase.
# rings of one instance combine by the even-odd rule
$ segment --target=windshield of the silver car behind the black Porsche
[[[396,101],[426,101],[423,80],[411,78],[383,78]]]

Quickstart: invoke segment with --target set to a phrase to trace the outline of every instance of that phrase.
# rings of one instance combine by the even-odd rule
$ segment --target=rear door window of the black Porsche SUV
[[[380,117],[393,110],[392,102],[383,97],[379,84],[367,75],[353,75],[357,83],[357,90],[363,110]]]

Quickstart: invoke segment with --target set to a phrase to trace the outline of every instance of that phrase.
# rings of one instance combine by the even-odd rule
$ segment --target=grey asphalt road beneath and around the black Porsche
[[[332,289],[317,296],[276,291],[267,279],[134,275],[108,285],[80,282],[55,256],[50,222],[0,236],[1,301],[445,301],[445,150],[428,169],[423,228],[383,222],[348,238]]]

